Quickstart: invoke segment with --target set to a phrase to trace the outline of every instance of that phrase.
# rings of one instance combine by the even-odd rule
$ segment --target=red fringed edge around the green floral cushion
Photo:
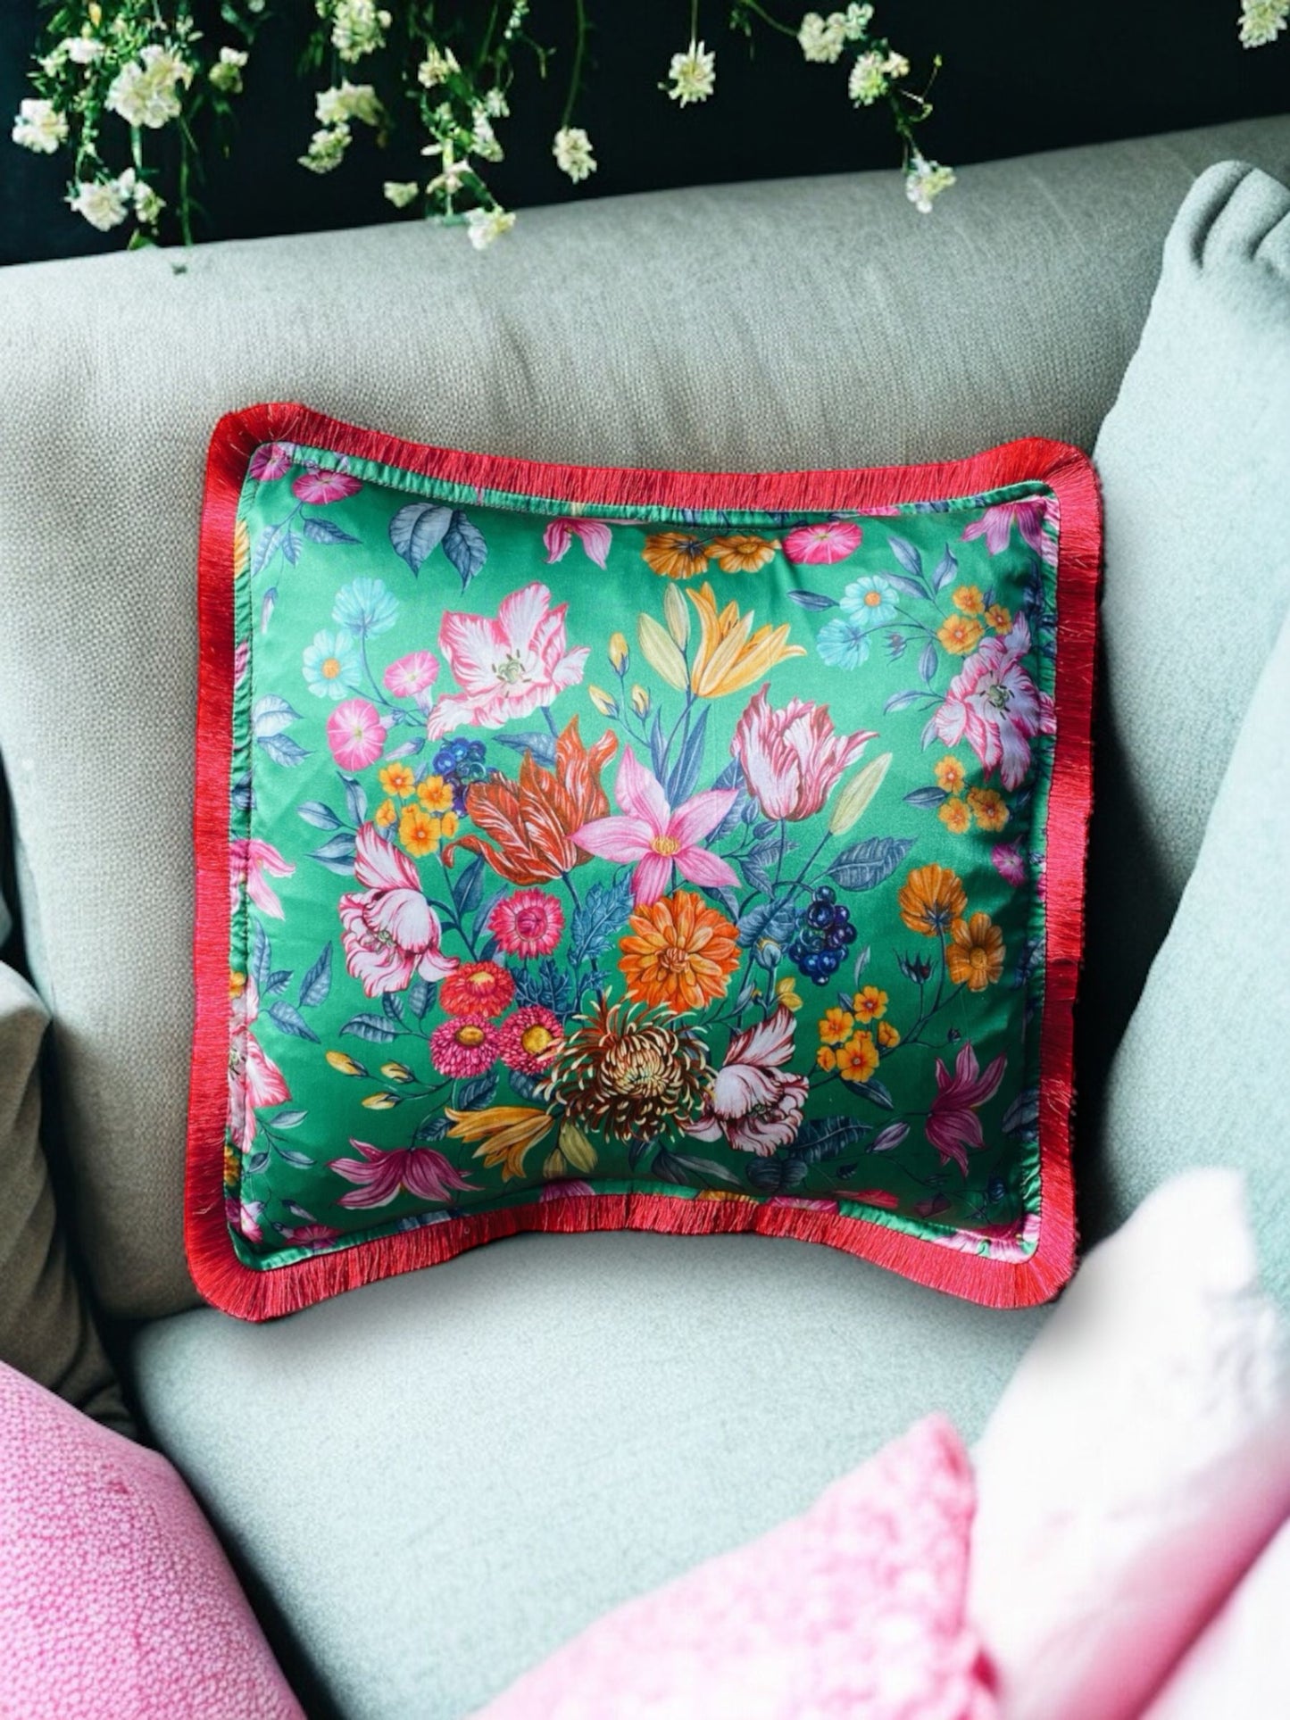
[[[244,1266],[224,1218],[229,1053],[227,807],[232,757],[232,552],[246,466],[263,442],[298,442],[478,490],[561,502],[714,509],[857,509],[1047,483],[1058,501],[1056,748],[1047,815],[1046,994],[1041,1035],[1039,1240],[1025,1261],[912,1237],[838,1213],[662,1194],[530,1201],[444,1219],[318,1254],[291,1266]],[[654,1230],[673,1235],[755,1232],[827,1244],[917,1283],[989,1307],[1056,1295],[1075,1264],[1070,1166],[1072,1017],[1084,937],[1084,855],[1092,805],[1092,688],[1101,507],[1092,463],[1063,442],[1025,439],[970,459],[863,471],[685,473],[556,466],[425,447],[359,430],[296,404],[251,406],[215,427],[198,550],[200,697],[196,748],[194,982],[184,1240],[198,1292],[239,1319],[275,1319],[342,1290],[519,1232]]]

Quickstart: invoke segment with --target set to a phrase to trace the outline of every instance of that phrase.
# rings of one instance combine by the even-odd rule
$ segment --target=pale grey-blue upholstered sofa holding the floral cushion
[[[1164,265],[1195,275],[1194,322],[1173,359],[1161,334],[1135,370],[1166,234],[1214,163],[1247,165],[1207,175]],[[860,174],[533,210],[483,256],[399,224],[0,273],[0,1359],[169,1455],[310,1715],[471,1713],[918,1416],[974,1438],[1047,1311],[791,1240],[640,1233],[514,1237],[261,1326],[200,1305],[182,1182],[217,418],[301,401],[415,440],[698,470],[908,464],[1023,435],[1097,447],[1082,1233],[1171,1170],[1233,1163],[1259,1178],[1285,1295],[1271,1070],[1290,951],[1283,920],[1233,908],[1281,851],[1285,810],[1252,765],[1244,791],[1223,777],[1268,664],[1264,703],[1285,710],[1290,686],[1287,179],[1290,119],[1268,119],[970,167],[929,218],[891,174]],[[1161,399],[1170,365],[1190,409]],[[1249,507],[1195,526],[1214,492]],[[1192,545],[1173,595],[1144,585],[1161,531]],[[1204,578],[1244,628],[1232,660],[1194,645],[1197,667],[1156,635],[1195,623]],[[1262,822],[1244,831],[1242,808]],[[1223,998],[1244,1025],[1182,1103],[1197,965],[1170,946],[1194,888],[1204,1018]]]

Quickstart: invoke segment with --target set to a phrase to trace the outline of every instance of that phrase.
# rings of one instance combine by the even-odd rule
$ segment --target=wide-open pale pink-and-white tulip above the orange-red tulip
[[[547,587],[533,583],[504,597],[497,619],[451,609],[439,626],[439,648],[461,691],[435,700],[427,736],[440,740],[463,722],[497,729],[576,686],[590,647],[568,648],[568,607],[552,609]]]

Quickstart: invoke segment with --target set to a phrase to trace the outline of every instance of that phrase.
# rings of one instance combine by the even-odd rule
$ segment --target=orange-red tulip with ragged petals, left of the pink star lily
[[[554,771],[525,753],[518,783],[502,776],[471,783],[466,812],[497,846],[463,836],[444,850],[444,865],[451,867],[458,848],[464,848],[483,855],[494,872],[513,884],[547,884],[583,865],[592,857],[573,841],[573,831],[607,817],[600,772],[616,750],[617,736],[605,733],[588,752],[578,734],[578,719],[571,717],[556,741]]]

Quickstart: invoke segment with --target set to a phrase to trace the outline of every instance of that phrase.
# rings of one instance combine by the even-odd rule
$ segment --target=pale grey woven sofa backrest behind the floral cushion
[[[490,452],[745,470],[1087,445],[1173,212],[1230,155],[1285,170],[1290,120],[975,167],[927,222],[884,172],[531,212],[485,258],[394,225],[0,275],[0,755],[107,1305],[194,1299],[193,569],[215,420],[308,399]],[[33,686],[74,691],[57,722],[31,722]],[[69,759],[76,843],[50,793]]]

